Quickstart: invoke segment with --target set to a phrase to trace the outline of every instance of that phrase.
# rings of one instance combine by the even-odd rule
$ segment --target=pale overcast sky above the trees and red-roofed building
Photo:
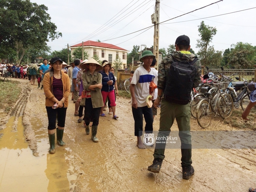
[[[100,40],[128,51],[132,51],[134,45],[143,49],[144,46],[141,45],[151,47],[154,44],[154,27],[147,31],[133,32],[153,25],[151,15],[155,11],[156,0],[30,1],[47,6],[51,22],[56,24],[56,31],[62,33],[59,39],[48,42],[52,51],[67,48],[67,44],[72,46],[88,40]],[[256,46],[256,9],[250,9],[256,7],[256,0],[223,0],[212,4],[217,1],[160,0],[160,22],[171,20],[159,26],[159,48],[167,49],[169,44],[175,43],[178,36],[187,35],[191,48],[197,53],[197,39],[200,39],[198,26],[202,20],[206,25],[217,29],[210,43],[215,50],[224,51],[237,42]],[[208,7],[200,9],[204,6]],[[249,10],[240,11],[243,9]],[[193,12],[189,13],[191,11]],[[226,14],[235,11],[240,12]],[[183,15],[185,13],[189,14]],[[178,17],[180,15],[183,16]],[[212,17],[216,15],[222,16]],[[133,34],[127,35],[129,33]],[[125,36],[121,37],[123,35]]]

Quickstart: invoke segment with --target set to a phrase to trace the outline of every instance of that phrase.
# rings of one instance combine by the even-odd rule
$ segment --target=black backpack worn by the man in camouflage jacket
[[[173,57],[173,55],[172,55]],[[174,59],[169,73],[166,74],[165,100],[186,105],[189,103],[193,81],[197,75],[197,69],[193,64],[198,60],[197,57],[189,61],[178,61]]]

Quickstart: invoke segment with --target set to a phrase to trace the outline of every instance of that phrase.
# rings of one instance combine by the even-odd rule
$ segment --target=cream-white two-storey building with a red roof
[[[82,47],[82,43],[70,46],[71,55],[72,52],[79,47]],[[119,56],[121,58],[124,68],[127,66],[127,53],[129,51],[113,44],[96,41],[85,41],[83,42],[83,50],[88,53],[88,59],[91,59],[93,55],[97,55],[101,61],[107,60],[109,63],[113,63],[115,58]]]

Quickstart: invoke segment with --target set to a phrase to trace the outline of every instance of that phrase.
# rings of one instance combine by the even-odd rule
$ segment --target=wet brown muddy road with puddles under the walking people
[[[119,119],[100,117],[99,142],[94,143],[83,123],[77,123],[70,95],[63,136],[66,146],[56,145],[56,153],[49,154],[43,90],[27,80],[22,80],[22,87],[15,110],[0,113],[1,192],[246,192],[256,187],[255,149],[193,149],[195,175],[190,180],[182,179],[180,149],[167,149],[160,174],[148,172],[154,147],[136,147],[130,100],[121,97],[116,107]],[[157,131],[159,115],[153,126]],[[172,130],[178,130],[176,124]],[[202,131],[194,119],[191,130]],[[237,131],[218,118],[203,131],[210,130]]]

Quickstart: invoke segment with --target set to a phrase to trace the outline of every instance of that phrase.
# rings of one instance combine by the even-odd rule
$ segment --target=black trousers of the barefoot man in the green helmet
[[[143,131],[143,115],[145,118],[145,132],[152,133],[153,132],[153,113],[152,108],[138,107],[135,109],[132,107],[132,114],[134,116],[134,135],[140,137]]]

